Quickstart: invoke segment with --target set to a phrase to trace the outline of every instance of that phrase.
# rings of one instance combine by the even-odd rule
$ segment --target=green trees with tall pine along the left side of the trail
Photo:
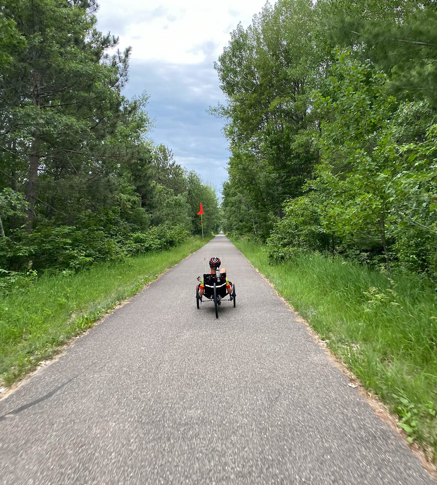
[[[96,28],[95,0],[0,6],[0,268],[75,270],[217,230],[215,189],[148,137],[128,100],[130,48]]]

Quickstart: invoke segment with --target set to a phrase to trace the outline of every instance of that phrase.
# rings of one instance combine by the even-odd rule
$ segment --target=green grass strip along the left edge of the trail
[[[0,297],[0,384],[10,386],[54,356],[68,339],[202,245],[191,238],[167,251],[99,263],[74,275],[43,275],[30,288]]]

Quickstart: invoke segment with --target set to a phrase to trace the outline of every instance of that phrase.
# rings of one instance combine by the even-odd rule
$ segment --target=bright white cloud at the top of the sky
[[[101,0],[97,28],[120,36],[120,47],[132,47],[132,58],[197,64],[217,57],[239,21],[244,26],[264,0]],[[199,49],[199,46],[201,48]]]

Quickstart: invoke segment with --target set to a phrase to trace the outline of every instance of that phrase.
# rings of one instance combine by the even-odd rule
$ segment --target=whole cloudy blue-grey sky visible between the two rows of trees
[[[182,166],[221,191],[227,178],[222,120],[206,113],[223,101],[213,62],[238,22],[247,27],[265,0],[100,0],[97,28],[132,47],[124,95],[147,91],[155,119],[151,138]]]

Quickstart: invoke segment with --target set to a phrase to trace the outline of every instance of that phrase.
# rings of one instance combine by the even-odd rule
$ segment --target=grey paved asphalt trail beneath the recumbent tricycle
[[[0,401],[0,483],[435,485],[348,383],[219,235]]]

